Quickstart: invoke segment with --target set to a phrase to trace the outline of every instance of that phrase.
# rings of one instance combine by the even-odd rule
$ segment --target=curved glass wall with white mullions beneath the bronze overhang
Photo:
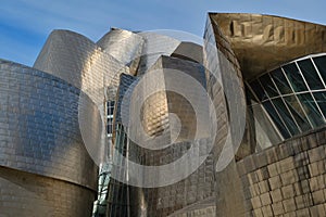
[[[325,125],[326,54],[285,64],[249,84],[284,139]]]

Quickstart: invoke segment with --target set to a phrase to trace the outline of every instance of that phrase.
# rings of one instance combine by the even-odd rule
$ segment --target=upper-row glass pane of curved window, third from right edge
[[[296,92],[308,90],[308,88],[302,79],[302,76],[299,72],[299,68],[297,67],[297,65],[294,63],[285,65],[285,66],[283,66],[283,68]]]

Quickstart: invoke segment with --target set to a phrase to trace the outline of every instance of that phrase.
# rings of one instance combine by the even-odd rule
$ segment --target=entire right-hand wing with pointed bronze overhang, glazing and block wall
[[[236,161],[215,175],[216,216],[325,215],[324,33],[276,16],[209,14],[204,64],[223,88],[237,72],[247,106]]]

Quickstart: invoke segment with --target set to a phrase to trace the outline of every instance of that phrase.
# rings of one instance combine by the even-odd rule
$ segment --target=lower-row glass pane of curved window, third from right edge
[[[306,131],[311,129],[308,117],[302,111],[297,98],[294,95],[289,95],[289,97],[285,97],[284,100],[287,106],[289,107],[292,116],[294,117],[296,122],[298,123],[299,127],[301,128],[301,130]]]

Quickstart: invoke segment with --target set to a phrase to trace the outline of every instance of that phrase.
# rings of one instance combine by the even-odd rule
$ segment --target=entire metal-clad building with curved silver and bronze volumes
[[[0,216],[324,216],[325,36],[209,13],[203,46],[53,30],[0,60]]]

